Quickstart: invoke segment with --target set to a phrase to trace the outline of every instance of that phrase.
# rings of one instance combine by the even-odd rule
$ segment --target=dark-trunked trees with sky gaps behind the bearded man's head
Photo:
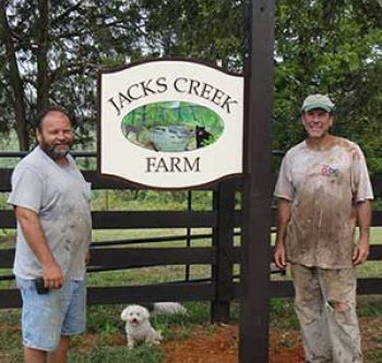
[[[96,71],[108,58],[139,51],[139,19],[134,1],[0,1],[0,131],[14,129],[28,149],[36,114],[59,104],[88,140]]]

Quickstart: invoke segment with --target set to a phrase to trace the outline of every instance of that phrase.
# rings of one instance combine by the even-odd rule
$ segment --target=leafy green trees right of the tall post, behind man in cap
[[[336,104],[335,132],[358,142],[382,170],[382,4],[378,0],[280,0],[276,12],[275,147],[301,140],[308,93]]]

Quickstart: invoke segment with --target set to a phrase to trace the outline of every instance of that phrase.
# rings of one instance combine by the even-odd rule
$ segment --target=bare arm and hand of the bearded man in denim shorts
[[[26,242],[43,266],[45,287],[48,289],[61,288],[63,283],[62,271],[45,240],[37,214],[32,209],[15,206],[15,216]]]

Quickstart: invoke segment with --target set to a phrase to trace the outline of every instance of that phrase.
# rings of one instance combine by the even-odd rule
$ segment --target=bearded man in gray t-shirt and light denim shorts
[[[64,362],[69,336],[85,328],[91,186],[69,155],[73,133],[63,109],[44,111],[36,136],[38,146],[12,174],[13,273],[23,299],[25,362]]]

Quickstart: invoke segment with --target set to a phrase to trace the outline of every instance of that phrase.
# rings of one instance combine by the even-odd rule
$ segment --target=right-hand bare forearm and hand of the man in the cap
[[[370,251],[371,203],[369,199],[357,203],[357,222],[359,227],[359,241],[353,253],[353,264],[360,265],[366,262]]]

